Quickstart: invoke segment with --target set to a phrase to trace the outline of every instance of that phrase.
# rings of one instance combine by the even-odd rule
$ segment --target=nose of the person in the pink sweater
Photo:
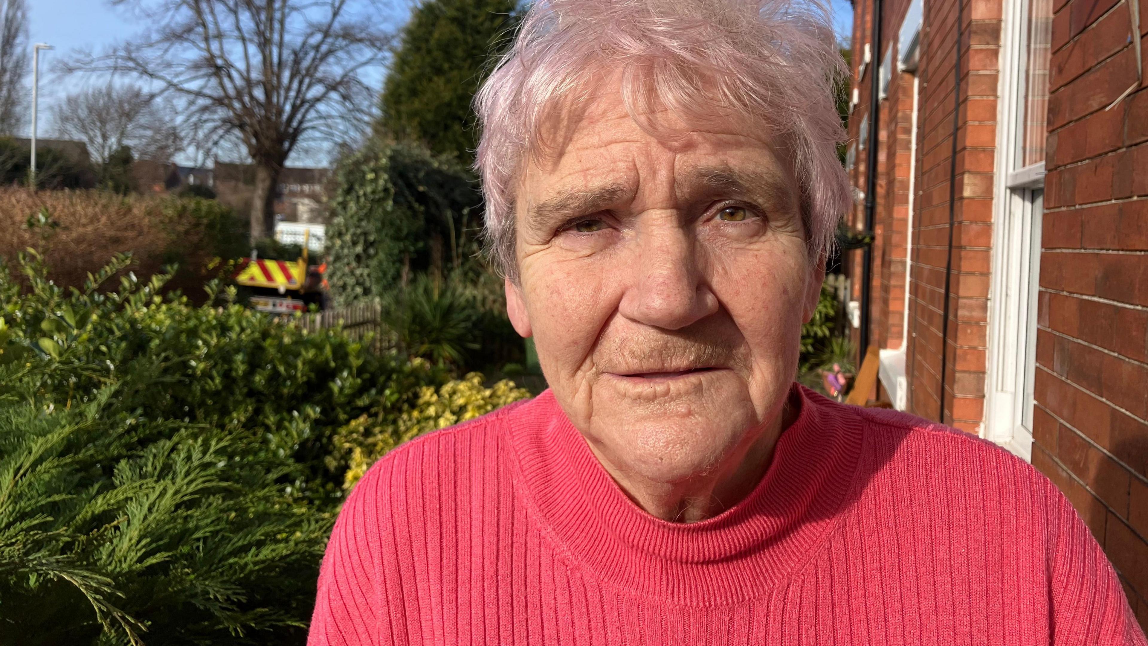
[[[619,314],[637,323],[678,330],[718,312],[718,297],[705,279],[687,231],[674,228],[641,236],[636,256],[634,278],[619,303]]]

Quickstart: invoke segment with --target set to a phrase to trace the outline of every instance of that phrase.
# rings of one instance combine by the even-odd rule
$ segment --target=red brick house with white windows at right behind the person
[[[1148,0],[853,5],[874,394],[1048,475],[1148,625]]]

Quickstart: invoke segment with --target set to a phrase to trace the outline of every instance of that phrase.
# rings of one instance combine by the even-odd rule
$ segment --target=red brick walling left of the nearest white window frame
[[[987,344],[988,263],[992,244],[993,166],[996,143],[998,60],[1002,0],[963,0],[961,85],[956,133],[956,200],[953,225],[953,271],[945,367],[944,421],[977,432],[984,420]],[[886,2],[885,45],[894,41],[907,1]],[[906,241],[914,245],[909,290],[907,377],[909,410],[938,420],[940,414],[943,312],[949,232],[953,92],[957,2],[925,2],[921,34],[921,80],[914,222],[909,231],[908,185],[913,110],[913,76],[894,71],[889,97],[882,101],[877,213],[874,232],[870,343],[900,345],[905,315]],[[869,38],[871,0],[854,3],[854,60],[860,63]],[[859,31],[863,29],[864,31]],[[878,74],[884,48],[874,52],[871,74]],[[854,78],[856,79],[856,70]],[[861,101],[850,120],[859,136],[868,113],[868,74],[855,80]],[[864,154],[859,151],[855,186],[866,189]],[[862,228],[863,207],[851,222]],[[860,295],[861,254],[851,259],[854,298]],[[860,340],[860,339],[858,339]]]

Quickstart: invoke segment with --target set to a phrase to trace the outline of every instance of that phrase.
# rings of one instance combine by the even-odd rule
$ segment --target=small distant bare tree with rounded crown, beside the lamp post
[[[101,167],[123,146],[137,159],[171,161],[179,132],[164,106],[138,85],[106,85],[69,94],[52,111],[56,132],[82,139]]]

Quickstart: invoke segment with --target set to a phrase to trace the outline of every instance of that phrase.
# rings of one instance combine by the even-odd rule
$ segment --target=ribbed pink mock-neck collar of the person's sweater
[[[604,583],[684,605],[755,598],[799,569],[827,538],[854,479],[860,418],[799,385],[797,420],[761,482],[698,523],[635,505],[546,391],[507,426],[519,490],[561,552]]]

